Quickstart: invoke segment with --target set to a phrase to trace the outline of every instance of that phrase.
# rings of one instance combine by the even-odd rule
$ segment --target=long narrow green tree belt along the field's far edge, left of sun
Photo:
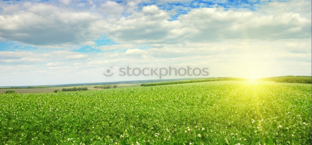
[[[171,85],[171,84],[184,84],[184,83],[193,83],[193,82],[212,82],[212,81],[247,81],[246,78],[237,78],[237,77],[217,77],[215,79],[204,79],[204,80],[188,80],[188,81],[173,81],[173,82],[156,82],[141,84],[141,86],[158,86],[158,85]]]

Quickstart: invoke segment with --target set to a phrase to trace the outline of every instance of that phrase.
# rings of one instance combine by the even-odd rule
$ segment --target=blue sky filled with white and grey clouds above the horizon
[[[1,1],[0,7],[0,86],[158,79],[102,74],[126,66],[209,68],[209,77],[311,75],[311,1]]]

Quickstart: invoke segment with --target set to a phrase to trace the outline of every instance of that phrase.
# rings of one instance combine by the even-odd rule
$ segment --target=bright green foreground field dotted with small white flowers
[[[0,94],[0,141],[311,144],[311,84],[209,83]]]

